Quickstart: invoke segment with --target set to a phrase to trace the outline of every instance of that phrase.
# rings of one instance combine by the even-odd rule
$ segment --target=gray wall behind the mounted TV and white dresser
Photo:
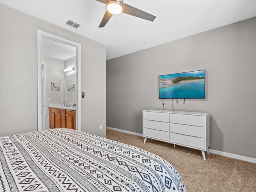
[[[174,110],[209,112],[210,149],[256,158],[255,34],[251,18],[108,60],[107,126],[142,133],[142,110],[162,109],[158,75],[206,69],[206,99]]]

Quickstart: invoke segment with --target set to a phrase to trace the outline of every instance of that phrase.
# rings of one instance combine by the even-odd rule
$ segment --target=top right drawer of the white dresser
[[[186,114],[170,114],[170,123],[205,126],[205,116],[202,115],[186,115]]]

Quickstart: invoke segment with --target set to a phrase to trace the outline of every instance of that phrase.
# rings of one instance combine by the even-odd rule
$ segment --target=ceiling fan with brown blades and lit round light
[[[129,14],[135,17],[139,17],[142,19],[146,19],[149,21],[154,21],[154,19],[156,18],[156,16],[154,15],[146,13],[128,4],[125,4],[123,0],[96,0],[96,1],[106,4],[106,9],[107,9],[99,27],[104,27],[113,14],[118,14],[120,12]]]

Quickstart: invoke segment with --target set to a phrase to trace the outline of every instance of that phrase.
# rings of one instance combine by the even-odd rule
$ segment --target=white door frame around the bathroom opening
[[[42,127],[42,37],[76,48],[76,130],[81,130],[81,44],[37,30],[37,130]],[[45,94],[45,93],[44,93]],[[46,106],[45,106],[46,107]]]

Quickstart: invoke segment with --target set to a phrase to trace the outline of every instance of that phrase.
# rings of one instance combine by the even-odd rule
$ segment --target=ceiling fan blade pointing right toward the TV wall
[[[132,7],[132,6],[130,6],[128,4],[125,4],[125,3],[123,5],[122,13],[126,13],[126,14],[129,14],[129,15],[135,16],[135,17],[139,17],[139,18],[142,18],[142,19],[149,20],[149,21],[154,21],[154,19],[156,18],[156,16],[154,16],[154,15],[146,13],[146,12],[140,10],[140,9]]]

